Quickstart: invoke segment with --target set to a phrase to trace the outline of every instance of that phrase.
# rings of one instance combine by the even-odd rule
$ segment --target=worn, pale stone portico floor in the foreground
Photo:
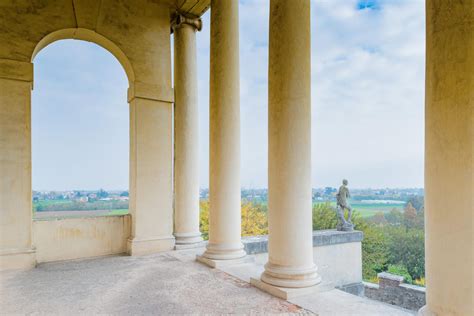
[[[29,271],[2,272],[0,310],[2,314],[70,315],[313,314],[223,271],[197,263],[195,255],[202,250],[47,263]],[[344,305],[344,300],[352,299],[352,295],[339,294],[337,300],[331,301],[331,294],[325,295],[322,313],[317,311],[317,301],[307,298],[315,304],[302,300],[301,305],[316,314],[341,315],[332,313],[327,303]],[[365,299],[353,298],[357,308],[363,310]],[[366,301],[372,307],[378,306],[377,313],[410,315],[395,307]],[[357,315],[357,310],[346,307],[347,315]]]

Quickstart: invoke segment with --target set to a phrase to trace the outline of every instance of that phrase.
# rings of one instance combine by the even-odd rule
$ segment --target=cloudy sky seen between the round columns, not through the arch
[[[376,10],[357,3],[312,1],[313,186],[343,177],[354,187],[422,186],[424,3],[382,1]],[[267,184],[268,13],[268,1],[241,1],[243,187]],[[204,25],[198,60],[207,187],[209,13]]]

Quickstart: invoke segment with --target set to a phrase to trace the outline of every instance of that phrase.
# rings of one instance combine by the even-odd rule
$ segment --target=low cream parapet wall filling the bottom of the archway
[[[50,262],[127,251],[130,215],[33,221],[36,261]]]

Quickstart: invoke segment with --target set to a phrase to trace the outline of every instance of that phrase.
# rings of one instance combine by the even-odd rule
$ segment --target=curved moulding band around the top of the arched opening
[[[33,50],[33,54],[31,56],[31,62],[33,62],[35,56],[43,48],[45,48],[49,44],[64,39],[83,40],[95,43],[106,49],[108,52],[114,55],[114,57],[117,58],[119,63],[122,65],[123,69],[125,70],[125,73],[127,74],[129,86],[131,86],[132,83],[135,82],[135,72],[133,70],[132,63],[125,55],[125,53],[114,42],[112,42],[105,36],[84,28],[67,28],[49,33],[36,44],[36,47]]]

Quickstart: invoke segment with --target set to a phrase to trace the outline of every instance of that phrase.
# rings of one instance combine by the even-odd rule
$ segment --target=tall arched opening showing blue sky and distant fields
[[[34,217],[128,213],[128,78],[121,63],[97,44],[60,40],[34,64]]]

